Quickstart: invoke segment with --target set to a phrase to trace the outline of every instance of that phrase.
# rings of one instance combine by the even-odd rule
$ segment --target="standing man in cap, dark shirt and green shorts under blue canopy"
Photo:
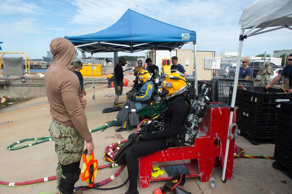
[[[113,108],[118,107],[119,96],[121,96],[123,93],[124,73],[122,66],[125,66],[126,64],[127,64],[126,59],[124,57],[121,57],[119,59],[119,63],[114,68],[114,91],[116,95],[114,96]]]

